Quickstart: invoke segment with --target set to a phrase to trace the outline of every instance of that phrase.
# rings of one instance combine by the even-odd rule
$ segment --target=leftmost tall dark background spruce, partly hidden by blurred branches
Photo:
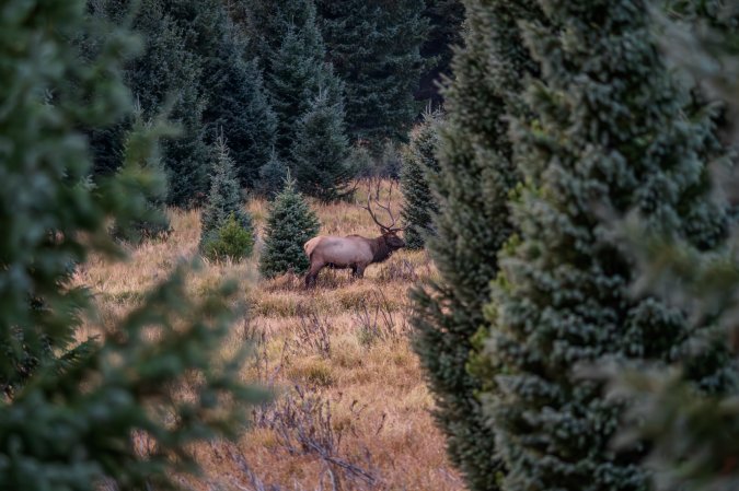
[[[130,23],[143,36],[143,52],[124,67],[124,78],[142,109],[145,119],[168,113],[181,131],[162,145],[162,164],[170,180],[170,203],[192,206],[207,190],[205,98],[199,78],[203,60],[187,49],[186,26],[177,25],[161,0],[143,0],[129,20],[130,1],[90,2],[91,15],[102,22]],[[78,36],[79,38],[79,36]],[[95,56],[100,46],[85,38],[83,57]],[[95,176],[109,175],[123,165],[123,145],[132,120],[126,118],[91,130]]]

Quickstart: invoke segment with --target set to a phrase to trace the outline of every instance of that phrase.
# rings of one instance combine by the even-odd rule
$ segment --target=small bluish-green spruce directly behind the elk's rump
[[[302,274],[310,260],[303,244],[319,234],[321,224],[310,204],[296,189],[296,182],[288,173],[282,191],[269,204],[265,229],[264,250],[259,271],[274,278],[288,271]]]

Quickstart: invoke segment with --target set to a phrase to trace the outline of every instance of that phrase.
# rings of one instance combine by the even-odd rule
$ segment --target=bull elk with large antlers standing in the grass
[[[392,187],[390,189],[392,195]],[[377,201],[376,201],[377,202]],[[380,202],[377,204],[385,210],[392,220],[390,225],[380,223],[372,211],[371,198],[367,198],[367,206],[361,207],[367,210],[382,235],[376,238],[367,238],[359,235],[347,235],[346,237],[336,237],[330,235],[319,235],[303,245],[303,249],[311,261],[311,268],[305,274],[305,287],[315,284],[319,272],[325,267],[334,269],[351,269],[354,278],[362,278],[365,268],[374,262],[382,262],[393,253],[405,247],[405,241],[397,236],[403,229],[395,226],[395,218],[390,210],[390,200],[388,206]]]

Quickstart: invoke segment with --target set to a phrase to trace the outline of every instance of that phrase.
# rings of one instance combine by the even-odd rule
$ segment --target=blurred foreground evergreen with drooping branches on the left
[[[92,163],[80,128],[129,116],[120,57],[135,43],[120,24],[86,17],[83,0],[2,9],[0,384],[20,383],[0,397],[0,489],[173,489],[175,476],[195,470],[187,448],[232,437],[247,412],[239,404],[257,396],[240,382],[238,359],[212,355],[229,332],[233,289],[195,303],[180,271],[120,322],[100,326],[109,336],[77,349],[80,319],[99,317],[92,295],[71,288],[70,270],[93,254],[123,256],[108,221],[137,220],[141,189],[161,183],[135,165],[84,183]],[[79,31],[101,36],[100,56],[85,60],[69,43]],[[129,139],[128,161],[147,161],[154,143]],[[35,359],[25,383],[23,356]],[[184,400],[181,387],[194,378],[197,397]],[[134,437],[152,451],[141,456]]]

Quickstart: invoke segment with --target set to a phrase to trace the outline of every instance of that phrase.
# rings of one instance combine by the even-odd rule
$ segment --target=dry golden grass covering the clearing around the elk
[[[358,199],[365,197],[360,188]],[[392,201],[399,210],[397,191]],[[323,234],[378,233],[367,212],[354,204],[314,209]],[[261,230],[266,203],[254,200],[249,210]],[[104,325],[135,306],[178,261],[197,254],[199,213],[170,214],[174,232],[165,241],[132,248],[127,262],[93,259],[78,272],[77,281],[95,293]],[[370,266],[362,280],[351,280],[348,271],[323,271],[319,287],[304,290],[302,278],[259,279],[258,243],[256,249],[249,261],[207,262],[190,274],[188,290],[198,294],[223,278],[239,281],[242,300],[251,305],[249,329],[257,338],[243,376],[274,387],[277,400],[255,411],[254,425],[238,445],[215,442],[196,448],[205,475],[187,486],[198,491],[252,490],[261,482],[281,490],[463,489],[447,461],[429,413],[432,400],[407,339],[406,292],[436,273],[427,254],[400,252]],[[243,342],[234,327],[223,354]]]

